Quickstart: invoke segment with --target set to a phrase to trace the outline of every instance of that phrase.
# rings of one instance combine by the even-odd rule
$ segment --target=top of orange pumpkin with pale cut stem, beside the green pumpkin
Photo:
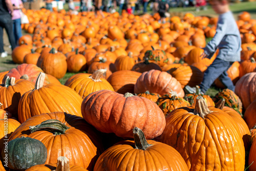
[[[58,157],[57,164],[38,164],[35,166],[32,166],[25,171],[65,171],[65,170],[70,170],[70,171],[88,171],[85,168],[75,166],[75,165],[70,165],[69,164],[69,159],[67,157],[60,156]]]

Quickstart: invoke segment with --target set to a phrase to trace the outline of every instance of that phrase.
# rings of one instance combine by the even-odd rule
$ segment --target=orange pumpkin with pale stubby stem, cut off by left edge
[[[31,81],[7,77],[4,84],[0,85],[0,102],[3,104],[1,109],[9,111],[15,118],[18,118],[18,102],[20,97],[32,90],[34,84]]]

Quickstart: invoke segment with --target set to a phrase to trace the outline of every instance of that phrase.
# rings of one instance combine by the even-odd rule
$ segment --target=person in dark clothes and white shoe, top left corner
[[[10,11],[10,13],[9,13]],[[1,57],[7,57],[8,54],[4,50],[4,40],[3,40],[3,29],[6,30],[9,42],[12,50],[16,47],[15,38],[13,34],[13,5],[10,0],[0,0],[0,53]]]

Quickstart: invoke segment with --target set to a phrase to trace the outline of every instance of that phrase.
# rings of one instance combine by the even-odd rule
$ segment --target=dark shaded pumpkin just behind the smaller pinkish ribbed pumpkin
[[[161,71],[161,68],[159,67],[159,65],[156,62],[148,61],[148,58],[144,58],[144,61],[140,61],[140,62],[136,63],[132,68],[132,71],[136,71],[136,72],[140,72],[140,73],[150,71],[150,70]]]

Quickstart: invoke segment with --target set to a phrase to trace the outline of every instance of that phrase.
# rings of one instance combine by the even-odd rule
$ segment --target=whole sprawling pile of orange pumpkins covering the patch
[[[160,24],[157,14],[25,12],[33,36],[12,53],[23,64],[0,73],[3,170],[244,170],[254,161],[256,25],[248,13],[238,20],[243,60],[228,71],[236,90],[211,99],[183,88],[199,84],[218,53],[200,57],[216,18],[188,13]],[[61,85],[67,70],[88,73]]]

